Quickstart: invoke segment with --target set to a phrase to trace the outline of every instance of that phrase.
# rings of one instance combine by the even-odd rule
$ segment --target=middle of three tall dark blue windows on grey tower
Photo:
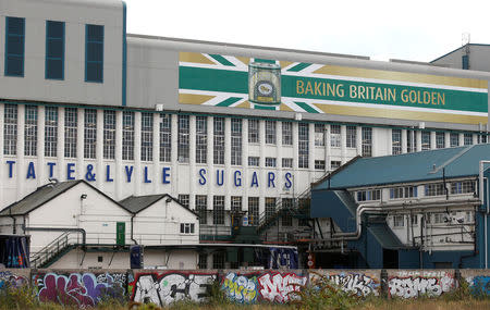
[[[46,78],[64,78],[64,23],[46,22]]]

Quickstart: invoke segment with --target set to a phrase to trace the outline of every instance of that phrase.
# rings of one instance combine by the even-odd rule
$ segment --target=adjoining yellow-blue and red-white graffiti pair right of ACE
[[[308,277],[298,272],[228,272],[221,282],[226,297],[240,303],[258,301],[289,302],[295,298],[292,292],[299,292]]]

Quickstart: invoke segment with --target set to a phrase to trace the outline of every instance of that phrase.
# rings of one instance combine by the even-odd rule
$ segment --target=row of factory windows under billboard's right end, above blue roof
[[[415,152],[417,150],[416,131],[406,131],[406,137],[407,137],[407,141],[406,141],[407,142],[407,152]],[[401,154],[402,153],[402,129],[392,129],[391,141],[392,141],[392,153]],[[478,142],[486,144],[487,136],[479,135]],[[431,145],[432,145],[431,132],[422,131],[420,133],[420,149],[422,151],[430,150]],[[473,145],[473,134],[470,134],[470,133],[463,134],[463,145],[464,146]],[[449,146],[450,147],[461,146],[460,134],[450,133]],[[445,147],[445,133],[437,132],[436,133],[436,149],[442,149],[444,147]]]

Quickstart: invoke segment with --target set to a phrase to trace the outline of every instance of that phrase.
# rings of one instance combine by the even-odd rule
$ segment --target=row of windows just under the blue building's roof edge
[[[475,193],[475,182],[474,181],[461,181],[450,183],[450,190],[448,194],[471,194]],[[425,196],[442,196],[445,195],[443,183],[432,183],[426,184],[424,186]],[[402,198],[416,198],[418,197],[417,186],[402,186],[390,188],[390,199],[402,199]],[[368,190],[357,190],[356,191],[357,201],[370,201],[381,199],[381,189],[368,189]]]

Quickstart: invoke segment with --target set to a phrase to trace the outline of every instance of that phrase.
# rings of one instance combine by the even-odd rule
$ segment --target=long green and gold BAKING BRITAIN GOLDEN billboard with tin
[[[478,124],[488,82],[180,52],[179,103]]]

